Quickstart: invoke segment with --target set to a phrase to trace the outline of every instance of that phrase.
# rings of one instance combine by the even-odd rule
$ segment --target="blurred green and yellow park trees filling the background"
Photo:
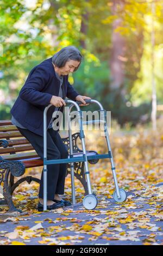
[[[149,121],[153,1],[0,0],[0,119],[10,119],[33,66],[74,45],[84,56],[69,77],[78,92],[101,101],[121,125]],[[162,104],[163,1],[154,2],[155,82]]]

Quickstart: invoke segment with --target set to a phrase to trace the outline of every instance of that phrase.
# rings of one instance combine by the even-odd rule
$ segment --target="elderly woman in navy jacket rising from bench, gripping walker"
[[[56,111],[63,111],[65,97],[85,104],[90,97],[79,95],[68,82],[68,74],[79,68],[82,55],[74,46],[62,48],[52,58],[44,60],[29,73],[17,100],[11,109],[12,124],[33,145],[43,160],[43,110],[49,103],[53,106],[47,112],[47,159],[65,159],[68,156],[57,129],[53,129],[52,118]],[[54,116],[54,115],[53,115]],[[53,126],[54,127],[54,126]],[[48,164],[47,209],[71,205],[60,195],[64,194],[66,163]],[[43,211],[43,172],[41,175],[39,211]]]

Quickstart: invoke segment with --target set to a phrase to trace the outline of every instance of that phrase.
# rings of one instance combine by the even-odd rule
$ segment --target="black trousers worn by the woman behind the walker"
[[[27,129],[17,127],[21,134],[32,144],[43,160],[43,137]],[[47,130],[47,160],[66,159],[68,152],[62,139],[53,129]],[[47,199],[53,200],[55,194],[64,194],[66,163],[47,164]],[[39,198],[43,198],[43,170],[41,174]]]

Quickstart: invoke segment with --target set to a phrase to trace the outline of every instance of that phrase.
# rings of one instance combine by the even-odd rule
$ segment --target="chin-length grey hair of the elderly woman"
[[[75,46],[64,47],[59,52],[55,53],[52,57],[52,63],[58,68],[62,68],[70,59],[77,60],[80,63],[82,62],[82,54]],[[74,71],[79,68],[79,65],[74,69]]]

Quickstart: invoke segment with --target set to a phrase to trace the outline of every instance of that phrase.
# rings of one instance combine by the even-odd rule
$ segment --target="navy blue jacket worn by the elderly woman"
[[[79,94],[64,76],[62,84],[64,99],[67,96],[75,100]],[[27,80],[11,108],[11,114],[26,129],[43,136],[43,111],[50,104],[53,95],[58,96],[60,81],[55,75],[52,58],[44,60],[29,73]],[[60,108],[63,111],[64,107]],[[47,127],[51,121],[55,106],[47,111]]]

